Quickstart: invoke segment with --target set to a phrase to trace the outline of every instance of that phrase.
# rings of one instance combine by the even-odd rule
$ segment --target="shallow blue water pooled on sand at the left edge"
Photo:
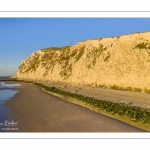
[[[4,123],[5,120],[10,119],[8,113],[11,112],[11,109],[4,106],[4,104],[19,92],[13,89],[16,86],[18,86],[18,84],[0,82],[0,123]]]

